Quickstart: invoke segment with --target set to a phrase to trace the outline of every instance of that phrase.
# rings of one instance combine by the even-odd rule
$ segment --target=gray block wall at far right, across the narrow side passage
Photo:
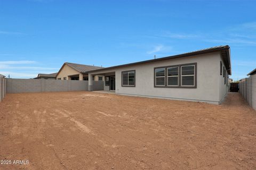
[[[256,74],[239,82],[239,93],[256,110]]]

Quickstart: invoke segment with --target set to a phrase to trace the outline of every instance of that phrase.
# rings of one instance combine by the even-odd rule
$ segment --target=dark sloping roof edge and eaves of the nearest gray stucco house
[[[170,60],[170,59],[174,59],[174,58],[189,57],[189,56],[193,56],[193,55],[207,54],[207,53],[213,53],[213,52],[221,52],[221,56],[223,58],[223,62],[225,64],[225,66],[227,68],[227,72],[228,72],[229,75],[231,75],[230,47],[228,45],[205,48],[205,49],[196,50],[196,51],[189,52],[189,53],[167,56],[167,57],[157,58],[157,59],[153,59],[153,60],[146,60],[146,61],[141,61],[141,62],[135,62],[135,63],[129,63],[129,64],[123,64],[123,65],[116,65],[116,66],[106,67],[106,68],[103,68],[103,69],[97,69],[97,71],[102,71],[102,70],[107,70],[107,69],[114,69],[114,68],[117,68],[117,67],[124,67],[124,66],[136,65],[136,64],[145,64],[145,63],[151,63],[151,62]],[[89,71],[87,71],[87,73],[93,72],[93,71],[95,71],[95,70],[89,70]]]

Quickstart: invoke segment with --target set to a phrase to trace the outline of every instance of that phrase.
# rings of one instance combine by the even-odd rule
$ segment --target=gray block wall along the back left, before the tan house
[[[7,93],[83,91],[88,89],[88,81],[44,80],[44,79],[7,79]]]

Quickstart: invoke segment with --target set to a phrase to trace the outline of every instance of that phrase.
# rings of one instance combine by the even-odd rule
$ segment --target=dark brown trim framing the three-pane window
[[[181,66],[185,66],[185,65],[195,65],[195,78],[194,78],[194,86],[181,86],[181,69],[180,67]],[[165,86],[155,86],[156,84],[156,79],[155,79],[155,70],[156,69],[159,69],[159,68],[165,68],[165,72],[166,72],[166,69],[168,67],[175,67],[175,66],[178,66],[179,67],[179,80],[178,80],[178,84],[179,86],[167,86],[167,83],[165,83]],[[190,88],[190,89],[196,89],[197,88],[197,63],[186,63],[186,64],[177,64],[177,65],[167,65],[167,66],[159,66],[159,67],[154,67],[154,88]],[[165,74],[167,75],[167,74]],[[167,80],[167,76],[165,76],[165,82]]]

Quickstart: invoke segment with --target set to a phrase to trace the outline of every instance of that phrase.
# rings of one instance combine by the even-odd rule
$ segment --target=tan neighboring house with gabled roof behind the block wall
[[[64,63],[56,75],[57,80],[88,80],[88,74],[86,71],[95,69],[102,69],[102,67],[75,64],[75,63]],[[103,81],[103,76],[97,75],[93,77],[94,81]]]

